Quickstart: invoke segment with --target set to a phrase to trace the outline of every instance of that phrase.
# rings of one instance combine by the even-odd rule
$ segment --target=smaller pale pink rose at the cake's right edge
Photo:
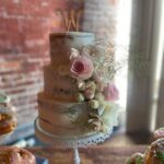
[[[107,84],[103,90],[105,101],[117,101],[119,98],[119,91],[114,83]]]

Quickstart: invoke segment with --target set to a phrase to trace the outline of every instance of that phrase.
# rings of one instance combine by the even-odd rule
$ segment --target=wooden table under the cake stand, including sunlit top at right
[[[126,133],[116,133],[103,144],[79,149],[81,164],[126,164],[131,154],[145,151],[148,145],[143,143],[150,144],[144,136],[132,138]],[[48,159],[50,164],[73,164],[72,149],[39,147],[30,151]]]

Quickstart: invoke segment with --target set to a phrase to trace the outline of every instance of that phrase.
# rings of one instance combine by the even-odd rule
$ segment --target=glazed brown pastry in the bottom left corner
[[[35,156],[24,149],[2,147],[0,164],[35,164]]]

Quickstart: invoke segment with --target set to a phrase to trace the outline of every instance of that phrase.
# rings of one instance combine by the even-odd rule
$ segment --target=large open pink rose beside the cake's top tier
[[[86,80],[92,77],[94,66],[92,61],[85,56],[78,56],[71,60],[71,74],[72,77]]]

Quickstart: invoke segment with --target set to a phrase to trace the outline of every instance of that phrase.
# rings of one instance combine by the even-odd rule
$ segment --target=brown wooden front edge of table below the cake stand
[[[114,147],[101,144],[79,149],[81,164],[125,164],[128,156],[134,152],[144,152],[145,145]],[[61,148],[33,148],[32,153],[49,160],[50,164],[72,164],[71,149]]]

